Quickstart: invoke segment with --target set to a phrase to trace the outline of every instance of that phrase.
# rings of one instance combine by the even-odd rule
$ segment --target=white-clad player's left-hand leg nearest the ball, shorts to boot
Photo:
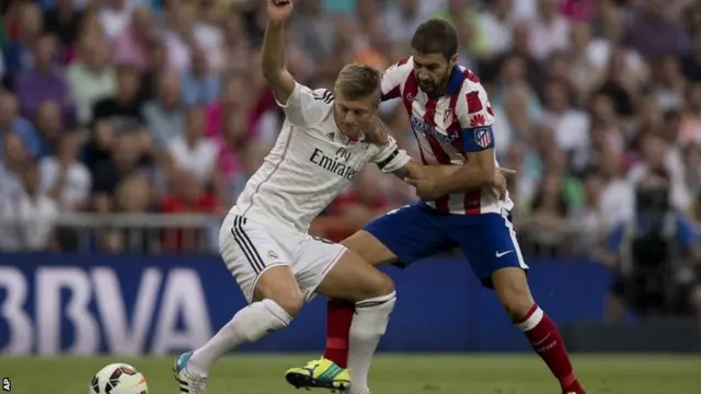
[[[200,348],[181,355],[175,363],[182,393],[205,392],[209,369],[228,351],[289,325],[303,303],[284,247],[269,232],[228,216],[220,231],[220,253],[250,305],[240,310]],[[258,253],[276,250],[277,258]]]

